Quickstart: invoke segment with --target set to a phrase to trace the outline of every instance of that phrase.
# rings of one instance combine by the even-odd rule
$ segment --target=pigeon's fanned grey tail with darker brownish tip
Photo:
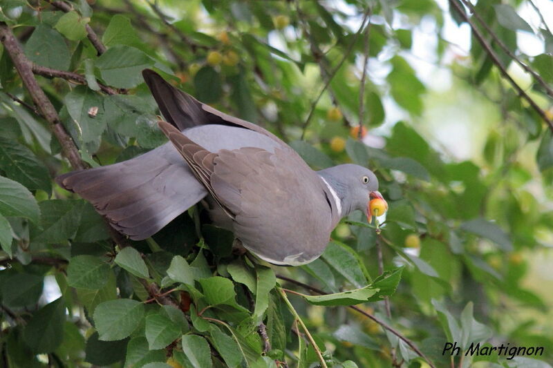
[[[170,144],[118,164],[66,173],[56,182],[133,240],[158,232],[207,194]]]

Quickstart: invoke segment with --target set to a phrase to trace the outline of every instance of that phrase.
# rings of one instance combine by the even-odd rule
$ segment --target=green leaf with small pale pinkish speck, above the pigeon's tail
[[[106,129],[102,96],[86,86],[77,86],[64,97],[64,102],[72,118],[71,135],[86,144],[88,152],[94,153]],[[97,108],[96,115],[89,115],[91,108]]]

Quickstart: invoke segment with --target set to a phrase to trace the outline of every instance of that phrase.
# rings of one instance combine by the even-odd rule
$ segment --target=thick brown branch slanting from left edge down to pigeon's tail
[[[21,46],[19,46],[19,42],[15,39],[12,30],[3,22],[0,22],[0,41],[10,55],[24,86],[32,97],[32,101],[35,102],[44,119],[50,125],[50,130],[52,130],[52,133],[62,146],[62,155],[71,162],[71,166],[76,170],[86,168],[87,165],[82,161],[79,150],[75,146],[71,135],[67,133],[62,122],[59,121],[56,109],[48,97],[46,97],[42,88],[40,88],[37,79],[35,79],[35,75],[32,73],[32,63],[27,59],[23,50],[21,50]]]

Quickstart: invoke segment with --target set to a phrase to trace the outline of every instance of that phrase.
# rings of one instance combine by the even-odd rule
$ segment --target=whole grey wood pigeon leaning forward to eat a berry
[[[149,238],[205,198],[216,226],[272,264],[297,266],[323,253],[341,217],[369,214],[375,174],[342,164],[313,171],[281,139],[202,104],[153,70],[142,72],[169,138],[118,164],[66,173],[56,182],[78,193],[133,240]]]

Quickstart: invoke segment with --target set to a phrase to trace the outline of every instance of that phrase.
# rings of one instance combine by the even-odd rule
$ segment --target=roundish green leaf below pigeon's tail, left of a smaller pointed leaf
[[[101,289],[108,281],[109,264],[93,255],[77,255],[69,260],[67,283],[79,289]]]

